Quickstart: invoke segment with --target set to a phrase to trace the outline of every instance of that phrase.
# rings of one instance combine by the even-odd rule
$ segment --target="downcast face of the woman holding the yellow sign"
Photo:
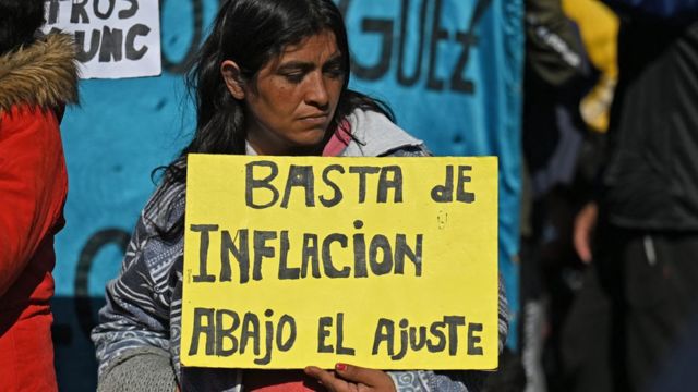
[[[248,140],[260,155],[322,151],[345,82],[342,53],[325,30],[290,45],[243,86]]]

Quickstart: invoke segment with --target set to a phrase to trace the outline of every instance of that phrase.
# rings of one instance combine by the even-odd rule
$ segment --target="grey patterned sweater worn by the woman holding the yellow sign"
[[[354,139],[342,156],[414,157],[429,152],[385,117],[356,111]],[[251,152],[251,151],[249,151]],[[242,371],[183,368],[179,362],[183,238],[166,242],[156,228],[184,215],[185,185],[160,186],[147,203],[128,246],[119,277],[106,290],[107,304],[92,340],[99,363],[98,391],[242,391]],[[169,211],[169,212],[167,212]],[[500,351],[508,314],[500,283]],[[398,391],[479,391],[484,371],[389,371]]]

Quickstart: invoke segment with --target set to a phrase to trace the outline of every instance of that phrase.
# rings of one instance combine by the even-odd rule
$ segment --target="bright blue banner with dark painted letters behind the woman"
[[[336,2],[350,34],[352,88],[388,102],[398,124],[435,155],[500,157],[500,268],[516,310],[522,0]],[[81,106],[65,114],[70,191],[53,301],[62,390],[95,390],[88,333],[155,187],[152,170],[191,137],[182,73],[217,8],[218,0],[160,0],[163,76],[84,81]]]

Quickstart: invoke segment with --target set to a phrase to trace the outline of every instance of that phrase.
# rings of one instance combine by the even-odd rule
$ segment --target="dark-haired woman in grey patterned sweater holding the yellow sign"
[[[179,364],[186,155],[425,156],[376,101],[351,91],[349,47],[332,0],[229,0],[189,75],[197,125],[146,205],[93,331],[103,390],[465,390],[479,372],[384,372],[338,364],[305,375]],[[502,306],[506,306],[502,302]],[[502,340],[506,333],[501,309]],[[311,379],[311,380],[312,380]],[[472,384],[469,384],[472,383]]]

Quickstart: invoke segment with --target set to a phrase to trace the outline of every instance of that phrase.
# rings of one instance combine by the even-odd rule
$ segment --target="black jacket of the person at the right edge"
[[[603,205],[611,223],[698,230],[698,22],[624,21]]]

